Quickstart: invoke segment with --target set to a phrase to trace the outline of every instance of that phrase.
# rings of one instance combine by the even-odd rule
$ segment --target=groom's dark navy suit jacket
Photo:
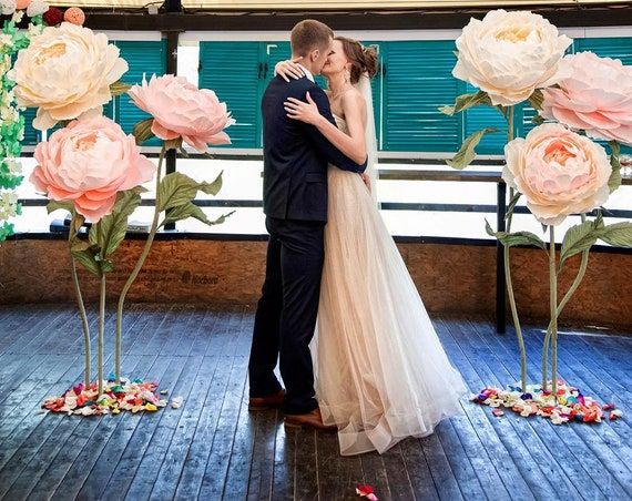
[[[314,125],[287,117],[287,98],[305,101],[309,92],[320,114],[336,123],[327,95],[306,76],[286,82],[275,76],[262,101],[264,213],[279,219],[327,221],[327,165],[361,173]]]

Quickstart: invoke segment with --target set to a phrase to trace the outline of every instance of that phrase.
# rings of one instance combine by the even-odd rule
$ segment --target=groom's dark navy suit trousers
[[[307,413],[318,407],[309,342],[318,314],[325,223],[266,217],[266,276],[253,330],[249,396],[281,390],[274,375],[279,360],[285,412]]]

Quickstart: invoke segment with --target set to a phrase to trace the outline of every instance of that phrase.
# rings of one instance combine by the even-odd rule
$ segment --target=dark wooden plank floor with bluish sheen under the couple
[[[560,337],[561,376],[615,401],[622,420],[555,427],[495,418],[466,400],[463,415],[428,438],[384,456],[342,458],[335,434],[286,431],[274,411],[248,413],[252,311],[145,305],[125,318],[124,372],[160,381],[184,397],[182,408],[40,413],[44,397],[81,378],[74,310],[0,307],[0,498],[338,500],[357,499],[357,483],[371,484],[381,500],[632,498],[631,337]],[[111,313],[108,327],[112,333]],[[518,377],[516,340],[496,335],[491,323],[437,319],[436,328],[470,390]],[[526,338],[538,380],[542,336],[532,328]],[[106,354],[112,346],[110,335]]]

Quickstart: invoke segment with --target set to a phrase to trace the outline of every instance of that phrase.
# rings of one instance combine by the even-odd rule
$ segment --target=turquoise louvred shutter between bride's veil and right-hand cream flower
[[[384,44],[383,44],[384,47]],[[465,84],[452,76],[455,42],[388,42],[384,75],[383,150],[455,152],[462,119],[438,108],[455,102]]]

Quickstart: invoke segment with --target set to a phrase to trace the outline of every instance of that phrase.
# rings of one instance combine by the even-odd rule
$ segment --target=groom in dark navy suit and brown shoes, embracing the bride
[[[313,125],[287,117],[288,98],[312,95],[322,115],[336,123],[325,92],[314,83],[332,50],[334,33],[305,20],[292,30],[292,59],[302,58],[305,76],[272,80],[262,102],[264,212],[269,233],[266,277],[257,305],[248,364],[251,410],[284,407],[285,422],[329,429],[323,423],[314,391],[309,341],[314,337],[323,234],[327,222],[327,164],[361,173]],[[274,369],[281,359],[283,390]]]

